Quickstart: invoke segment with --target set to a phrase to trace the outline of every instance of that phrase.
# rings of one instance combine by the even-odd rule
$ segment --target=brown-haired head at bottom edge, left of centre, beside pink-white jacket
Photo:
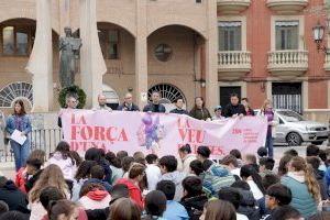
[[[108,220],[141,220],[141,209],[129,198],[120,198],[111,205]]]

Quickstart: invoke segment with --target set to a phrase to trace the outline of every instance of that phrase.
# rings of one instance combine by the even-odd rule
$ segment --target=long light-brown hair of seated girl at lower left
[[[41,191],[48,186],[58,188],[64,195],[68,193],[68,187],[65,183],[63,173],[55,164],[51,164],[43,170],[38,180],[35,183],[34,187],[29,194],[29,201],[34,202],[38,200]]]

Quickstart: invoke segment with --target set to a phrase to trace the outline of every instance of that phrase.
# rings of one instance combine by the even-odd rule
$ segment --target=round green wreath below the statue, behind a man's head
[[[62,108],[66,108],[66,97],[73,96],[78,100],[77,109],[82,109],[86,105],[86,94],[76,85],[63,88],[58,95],[58,103]]]

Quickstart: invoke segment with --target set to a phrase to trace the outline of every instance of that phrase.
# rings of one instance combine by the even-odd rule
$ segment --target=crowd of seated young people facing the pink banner
[[[278,167],[261,147],[219,161],[208,146],[178,157],[59,142],[45,160],[34,150],[15,179],[0,176],[0,220],[298,220],[330,219],[330,148],[285,152]]]

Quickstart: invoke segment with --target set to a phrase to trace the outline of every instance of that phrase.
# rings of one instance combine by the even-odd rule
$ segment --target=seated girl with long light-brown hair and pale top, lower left
[[[47,215],[47,211],[40,201],[40,195],[44,188],[50,186],[58,188],[64,195],[64,198],[70,198],[69,189],[65,183],[61,168],[55,164],[51,164],[43,170],[38,180],[29,193],[29,209],[31,210],[30,220],[40,220]]]

